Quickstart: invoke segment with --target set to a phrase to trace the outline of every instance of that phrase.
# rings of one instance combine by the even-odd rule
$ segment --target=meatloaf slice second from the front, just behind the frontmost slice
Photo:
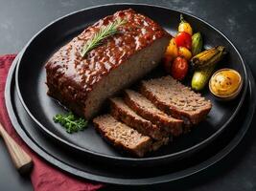
[[[158,126],[152,124],[151,121],[138,116],[120,97],[110,99],[110,108],[110,113],[113,117],[117,120],[121,120],[143,135],[156,140],[168,138],[169,136],[167,132],[162,131]]]

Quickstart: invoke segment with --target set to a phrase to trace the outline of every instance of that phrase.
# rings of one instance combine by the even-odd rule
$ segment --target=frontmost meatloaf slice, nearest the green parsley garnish
[[[152,140],[150,137],[143,136],[114,117],[110,115],[96,117],[93,122],[101,135],[114,146],[137,157],[143,157],[145,153],[151,151]]]

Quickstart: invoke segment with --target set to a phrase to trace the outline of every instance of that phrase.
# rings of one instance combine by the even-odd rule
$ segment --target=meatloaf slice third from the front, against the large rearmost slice
[[[152,123],[163,127],[174,136],[182,134],[183,121],[170,117],[156,108],[149,99],[132,90],[125,91],[125,101],[128,106],[141,117],[151,120]]]

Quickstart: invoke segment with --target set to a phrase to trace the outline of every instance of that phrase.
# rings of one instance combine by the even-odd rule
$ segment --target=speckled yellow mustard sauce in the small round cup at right
[[[212,92],[218,96],[230,96],[238,90],[240,85],[240,74],[231,69],[218,72],[210,81]]]

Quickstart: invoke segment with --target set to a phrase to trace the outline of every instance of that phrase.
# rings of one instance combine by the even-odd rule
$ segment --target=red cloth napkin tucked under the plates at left
[[[91,183],[89,181],[77,180],[68,174],[59,171],[57,168],[40,159],[30,148],[18,137],[10,118],[8,117],[5,105],[5,84],[9,68],[16,54],[6,54],[0,56],[0,121],[4,125],[9,135],[25,149],[33,158],[34,168],[31,173],[31,180],[35,191],[91,191],[103,187],[101,183]]]

